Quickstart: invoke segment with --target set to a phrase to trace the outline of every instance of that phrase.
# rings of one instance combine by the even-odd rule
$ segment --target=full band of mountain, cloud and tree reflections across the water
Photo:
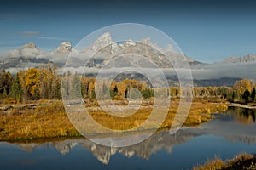
[[[237,123],[240,122],[240,123]],[[55,148],[62,155],[67,155],[75,146],[81,146],[96,157],[102,164],[107,165],[114,155],[126,157],[137,156],[143,160],[149,160],[159,150],[166,150],[171,153],[172,149],[180,144],[187,143],[201,135],[211,134],[222,137],[231,142],[256,144],[255,135],[255,111],[231,107],[224,114],[218,115],[217,119],[203,124],[201,127],[183,127],[172,136],[168,131],[154,133],[150,138],[140,144],[123,148],[114,148],[94,144],[86,139],[65,139],[62,141],[15,143],[21,150],[33,152],[36,148]]]

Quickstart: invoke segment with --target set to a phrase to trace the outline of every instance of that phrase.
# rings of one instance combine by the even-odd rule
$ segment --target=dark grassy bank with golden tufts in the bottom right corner
[[[193,168],[193,170],[215,169],[254,170],[256,169],[256,158],[253,155],[245,153],[235,156],[232,160],[227,161],[222,161],[220,158],[216,157],[214,160],[207,161],[204,165]]]

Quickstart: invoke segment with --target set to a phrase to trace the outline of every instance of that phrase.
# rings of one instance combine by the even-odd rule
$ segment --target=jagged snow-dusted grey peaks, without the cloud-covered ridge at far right
[[[48,62],[52,62],[55,63],[55,65],[62,67],[66,63],[68,55],[72,54],[72,63],[74,64],[70,66],[84,66],[84,61],[89,67],[101,68],[113,56],[127,53],[140,54],[149,60],[153,60],[160,68],[170,68],[172,67],[172,64],[177,64],[171,64],[165,58],[164,54],[161,54],[160,51],[156,50],[156,48],[158,47],[156,47],[149,38],[145,38],[139,42],[133,42],[132,40],[127,40],[123,43],[113,42],[109,32],[106,32],[102,34],[102,36],[98,37],[89,47],[84,47],[84,50],[79,52],[73,48],[70,42],[61,42],[61,44],[51,53],[40,50],[31,42],[19,49],[9,51],[5,54],[0,54],[0,65],[1,67],[8,69],[13,67],[37,67],[40,64],[44,65]],[[165,50],[166,49],[163,51],[165,52]],[[92,54],[95,54],[94,58],[89,61],[86,60]],[[176,61],[180,62],[178,58],[181,58],[182,54],[168,55],[177,57]],[[137,58],[135,57],[134,59]],[[185,56],[185,59],[189,62],[190,66],[205,65],[201,62],[195,61],[194,59],[190,59],[187,56]],[[40,63],[40,61],[42,62]],[[130,64],[134,65],[132,61],[133,59],[129,59]],[[127,61],[127,63],[129,62]],[[143,65],[139,66],[147,65],[143,63]]]

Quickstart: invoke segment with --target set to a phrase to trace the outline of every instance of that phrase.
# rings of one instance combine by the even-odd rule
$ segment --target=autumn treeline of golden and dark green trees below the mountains
[[[0,102],[26,103],[27,100],[61,99],[61,80],[64,80],[63,96],[74,98],[82,95],[84,99],[89,101],[96,99],[95,77],[80,77],[76,73],[71,74],[71,72],[59,76],[56,73],[56,67],[49,65],[40,69],[31,68],[26,71],[19,71],[15,76],[5,70],[0,71]],[[105,94],[108,90],[106,84],[107,82],[102,83],[102,87],[100,87]],[[247,103],[254,102],[255,87],[253,80],[243,79],[236,81],[233,87],[194,87],[192,94],[195,98],[213,97]],[[164,97],[179,97],[188,93],[182,91],[179,87],[169,87],[161,90],[164,90],[164,93],[157,90],[156,93],[164,94]],[[121,82],[113,81],[109,90],[111,99],[116,100],[127,97],[139,98],[140,95],[137,92],[140,92],[143,99],[154,98],[154,95],[156,95],[154,89],[150,88],[146,82],[131,79],[125,79]]]

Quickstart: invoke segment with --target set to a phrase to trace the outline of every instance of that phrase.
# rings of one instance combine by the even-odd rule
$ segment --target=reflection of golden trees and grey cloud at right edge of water
[[[206,133],[224,137],[232,142],[256,144],[255,110],[230,107],[224,114],[203,125]]]

